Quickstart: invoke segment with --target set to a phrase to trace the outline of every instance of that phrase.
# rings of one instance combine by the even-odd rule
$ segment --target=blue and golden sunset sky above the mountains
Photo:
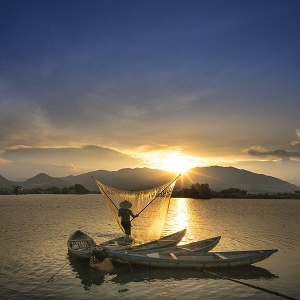
[[[0,174],[223,165],[300,185],[299,13],[0,0]]]

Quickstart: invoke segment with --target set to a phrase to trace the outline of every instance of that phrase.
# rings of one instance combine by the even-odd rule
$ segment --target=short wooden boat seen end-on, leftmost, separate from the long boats
[[[74,231],[67,240],[68,251],[80,258],[90,258],[95,245],[93,239],[81,230]]]

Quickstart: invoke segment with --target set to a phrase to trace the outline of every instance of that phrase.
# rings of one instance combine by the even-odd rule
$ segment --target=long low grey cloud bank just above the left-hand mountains
[[[2,163],[0,174],[6,178],[15,176],[28,178],[44,172],[51,176],[62,177],[70,173],[96,169],[118,170],[124,167],[141,166],[139,158],[96,145],[81,147],[13,147],[0,154]]]

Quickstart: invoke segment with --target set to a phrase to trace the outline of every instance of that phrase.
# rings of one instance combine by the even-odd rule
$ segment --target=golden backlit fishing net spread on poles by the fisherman
[[[95,178],[94,180],[97,183],[114,220],[122,232],[124,232],[124,229],[121,225],[120,217],[118,216],[118,209],[119,203],[127,200],[132,203],[130,209],[133,214],[137,214],[143,209],[139,216],[131,221],[131,233],[134,236],[134,239],[144,241],[160,237],[176,179],[161,186],[141,191],[116,189],[103,184]]]

